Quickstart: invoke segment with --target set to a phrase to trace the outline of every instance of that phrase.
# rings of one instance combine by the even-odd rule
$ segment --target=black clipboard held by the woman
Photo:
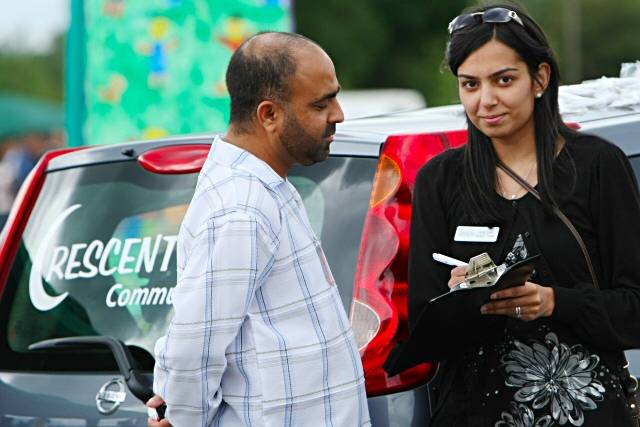
[[[491,286],[447,292],[429,301],[409,339],[397,345],[387,358],[384,370],[396,375],[420,363],[438,362],[470,345],[480,344],[486,328],[495,328],[505,321],[504,316],[481,314],[480,307],[494,292],[524,284],[539,257],[535,255],[508,267]]]

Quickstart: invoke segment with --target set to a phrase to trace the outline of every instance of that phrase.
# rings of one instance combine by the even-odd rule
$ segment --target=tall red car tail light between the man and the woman
[[[417,387],[435,373],[435,366],[425,363],[389,377],[382,365],[408,336],[407,261],[416,175],[435,155],[466,139],[466,131],[455,131],[396,135],[385,142],[362,233],[350,315],[369,396]]]

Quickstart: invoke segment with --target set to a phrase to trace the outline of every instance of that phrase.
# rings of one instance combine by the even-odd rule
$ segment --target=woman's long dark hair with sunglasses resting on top
[[[550,208],[556,203],[553,161],[559,136],[574,134],[560,117],[558,107],[558,81],[560,78],[558,62],[549,46],[547,37],[540,26],[515,2],[500,2],[465,10],[464,13],[482,12],[494,7],[512,10],[522,19],[524,26],[511,20],[506,23],[483,23],[480,16],[475,24],[455,31],[447,44],[445,60],[449,69],[457,76],[460,65],[474,51],[491,40],[497,40],[516,51],[527,64],[529,74],[536,79],[538,66],[549,64],[549,85],[541,98],[534,104],[534,122],[536,135],[536,157],[538,159],[538,190],[543,204]],[[482,133],[467,116],[469,142],[464,153],[463,197],[470,220],[501,218],[496,206],[496,162],[497,156],[488,136]],[[564,175],[564,174],[563,174]],[[574,176],[574,174],[570,174]]]

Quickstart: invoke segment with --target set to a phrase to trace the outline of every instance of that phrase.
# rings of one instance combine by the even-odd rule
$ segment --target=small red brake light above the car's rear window
[[[138,162],[148,171],[159,174],[194,173],[202,169],[210,148],[209,144],[154,148],[142,153]]]

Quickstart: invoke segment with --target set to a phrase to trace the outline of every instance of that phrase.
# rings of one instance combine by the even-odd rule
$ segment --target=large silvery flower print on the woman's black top
[[[558,342],[553,332],[545,336],[544,343],[526,345],[515,340],[513,344],[515,348],[502,357],[502,364],[507,373],[505,384],[518,388],[515,401],[529,403],[534,410],[548,406],[549,415],[559,425],[581,426],[583,411],[596,409],[596,402],[604,397],[605,388],[595,372],[600,358],[580,345],[570,347]],[[511,409],[521,406],[526,408],[518,405]],[[519,413],[521,419],[528,420],[525,413]]]

